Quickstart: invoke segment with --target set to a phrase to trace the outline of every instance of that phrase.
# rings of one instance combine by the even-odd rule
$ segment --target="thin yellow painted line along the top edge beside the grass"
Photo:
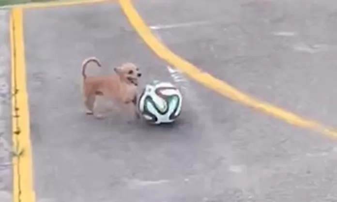
[[[51,8],[51,7],[61,7],[61,6],[73,6],[73,5],[84,5],[84,4],[94,4],[102,3],[113,0],[57,0],[49,1],[43,3],[23,3],[10,6],[3,6],[2,8],[22,8],[22,9],[41,9],[41,8]]]

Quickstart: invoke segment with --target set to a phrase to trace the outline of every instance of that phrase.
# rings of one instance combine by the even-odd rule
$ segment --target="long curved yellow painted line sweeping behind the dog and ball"
[[[153,52],[159,58],[166,60],[169,64],[187,74],[190,78],[194,79],[205,87],[213,89],[218,94],[233,101],[240,102],[245,106],[254,108],[267,115],[272,115],[289,124],[305,128],[307,130],[321,132],[330,138],[337,139],[337,130],[335,129],[325,127],[316,121],[308,120],[299,115],[273,106],[267,102],[255,99],[243,92],[240,92],[238,89],[231,87],[226,82],[213,77],[209,73],[200,71],[199,68],[174,54],[154,37],[154,35],[151,33],[151,30],[148,28],[143,19],[139,16],[137,10],[132,5],[131,0],[119,0],[119,3],[130,24],[134,27],[140,38],[142,38],[143,41],[153,50]]]

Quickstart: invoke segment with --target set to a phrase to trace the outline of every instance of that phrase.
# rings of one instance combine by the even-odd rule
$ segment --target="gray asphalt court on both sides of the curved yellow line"
[[[337,125],[336,93],[328,90],[336,75],[336,50],[333,17],[327,15],[335,4],[303,2],[135,3],[153,26],[223,19],[155,34],[178,55],[234,87]],[[29,10],[24,17],[38,202],[337,200],[334,142],[247,109],[168,70],[117,4]],[[284,31],[297,35],[271,34]],[[325,49],[295,52],[310,52],[303,44],[293,46],[301,43],[325,44]],[[80,65],[89,56],[102,60],[105,73],[122,62],[135,62],[144,74],[142,85],[153,79],[175,82],[184,95],[176,125],[127,123],[117,112],[106,120],[85,115]]]

